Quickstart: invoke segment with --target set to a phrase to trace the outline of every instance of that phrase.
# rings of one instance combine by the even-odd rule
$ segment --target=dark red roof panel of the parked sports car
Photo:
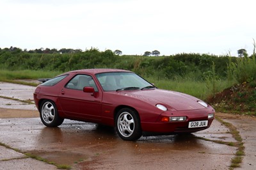
[[[131,72],[131,71],[115,69],[115,68],[91,68],[91,69],[74,70],[68,73],[74,73],[74,72],[97,74],[97,73],[107,73],[107,72]]]

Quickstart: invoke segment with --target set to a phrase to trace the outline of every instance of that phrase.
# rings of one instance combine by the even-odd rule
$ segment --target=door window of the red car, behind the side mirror
[[[65,86],[68,89],[79,89],[83,90],[84,87],[93,87],[95,91],[98,88],[90,75],[78,74],[73,77]]]

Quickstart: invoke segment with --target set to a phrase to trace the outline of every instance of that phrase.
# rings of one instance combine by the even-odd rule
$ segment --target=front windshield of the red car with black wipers
[[[104,91],[143,89],[153,86],[136,73],[131,72],[98,73],[96,77]]]

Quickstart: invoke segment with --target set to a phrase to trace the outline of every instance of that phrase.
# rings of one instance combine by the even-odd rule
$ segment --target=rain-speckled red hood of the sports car
[[[200,99],[176,91],[168,91],[164,89],[148,89],[140,91],[126,91],[125,93],[120,94],[136,98],[152,105],[163,104],[168,109],[173,108],[177,111],[205,109],[204,106],[198,104],[197,101]]]

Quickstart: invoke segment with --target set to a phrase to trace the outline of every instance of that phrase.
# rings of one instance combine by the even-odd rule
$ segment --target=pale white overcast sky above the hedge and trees
[[[0,0],[0,48],[253,52],[255,0]]]

